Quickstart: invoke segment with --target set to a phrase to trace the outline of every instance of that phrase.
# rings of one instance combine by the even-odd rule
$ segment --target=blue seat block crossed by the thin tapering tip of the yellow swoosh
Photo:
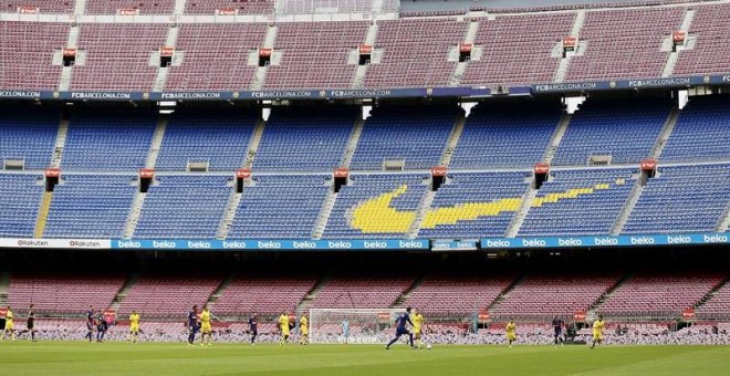
[[[520,236],[609,234],[634,185],[633,169],[552,173],[520,228]]]

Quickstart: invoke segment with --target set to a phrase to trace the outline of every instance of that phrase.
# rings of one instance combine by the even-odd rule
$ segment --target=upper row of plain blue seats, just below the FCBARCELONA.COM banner
[[[572,115],[554,166],[585,166],[592,157],[636,165],[664,144],[666,163],[722,161],[730,155],[728,97],[692,97],[668,139],[658,139],[670,115],[665,101],[588,101]],[[230,106],[229,106],[230,107]],[[616,112],[620,107],[623,111]],[[0,121],[0,159],[22,159],[24,169],[50,166],[60,115],[45,106],[11,111]],[[449,137],[462,114],[458,106],[382,105],[373,108],[354,145],[352,170],[382,170],[385,161],[404,169],[441,164]],[[306,116],[303,116],[306,115]],[[207,161],[210,171],[243,167],[259,115],[230,107],[182,108],[170,115],[150,166],[185,171],[188,161]],[[264,125],[253,159],[255,171],[331,173],[344,164],[359,111],[355,107],[275,107]],[[66,121],[64,121],[66,122]],[[67,117],[59,156],[64,171],[136,171],[148,163],[158,115],[142,108],[94,108]],[[552,103],[486,102],[466,119],[449,167],[528,168],[543,160],[561,123]],[[627,126],[630,125],[630,126]],[[58,150],[55,150],[58,152]]]

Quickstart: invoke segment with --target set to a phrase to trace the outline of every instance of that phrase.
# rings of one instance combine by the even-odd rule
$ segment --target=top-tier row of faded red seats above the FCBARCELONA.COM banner
[[[197,2],[188,1],[192,3]],[[259,2],[246,2],[251,3]],[[670,54],[663,45],[670,40],[672,31],[681,28],[690,10],[696,12],[687,31],[692,40],[691,49],[677,53],[672,75],[728,73],[730,63],[723,59],[721,41],[727,36],[723,24],[730,6],[692,3],[586,10],[578,34],[573,35],[578,36],[580,51],[562,67],[564,81],[661,77]],[[374,56],[380,58],[367,67],[362,85],[377,88],[554,82],[561,65],[561,54],[555,51],[560,50],[560,41],[572,32],[577,18],[576,11],[567,11],[474,19],[478,24],[474,56],[459,74],[453,56],[458,55],[459,43],[467,39],[469,19],[379,20],[373,48]],[[0,79],[0,87],[56,90],[61,66],[51,62],[66,43],[69,28],[48,22],[0,22],[0,35],[7,39],[7,43],[0,44],[0,54],[12,56],[0,60],[0,67],[9,72]],[[177,56],[167,69],[164,88],[253,88],[257,64],[249,65],[255,61],[249,58],[257,56],[257,49],[264,44],[268,28],[264,23],[177,25]],[[363,21],[282,22],[277,27],[273,45],[267,46],[273,48],[281,59],[274,56],[259,86],[358,87],[357,61],[351,55],[357,56],[368,28],[368,22]],[[76,48],[84,59],[72,69],[72,90],[148,92],[155,87],[158,65],[152,56],[166,44],[168,25],[84,23],[79,30]]]

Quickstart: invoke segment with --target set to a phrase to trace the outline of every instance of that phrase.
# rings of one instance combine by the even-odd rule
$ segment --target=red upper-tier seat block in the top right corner
[[[724,41],[728,39],[728,4],[705,4],[697,12],[689,27],[688,35],[696,39],[692,50],[679,52],[674,75],[709,74],[730,72]]]

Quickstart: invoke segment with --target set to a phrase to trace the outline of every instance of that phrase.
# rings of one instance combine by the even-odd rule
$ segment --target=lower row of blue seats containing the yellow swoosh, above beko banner
[[[730,200],[727,164],[660,167],[643,188],[622,233],[716,231]],[[354,175],[334,196],[324,239],[503,237],[529,188],[528,173],[453,173],[420,222],[425,174]],[[40,175],[2,174],[4,237],[32,237],[43,186]],[[229,239],[311,239],[331,192],[323,175],[254,177],[234,197],[232,177],[158,176],[144,195],[136,239],[221,236],[231,205]],[[137,187],[133,176],[67,175],[50,201],[45,238],[122,238]],[[557,170],[536,191],[518,236],[611,234],[635,186],[630,169]],[[233,198],[238,202],[231,201]],[[415,231],[415,232],[414,232]]]

